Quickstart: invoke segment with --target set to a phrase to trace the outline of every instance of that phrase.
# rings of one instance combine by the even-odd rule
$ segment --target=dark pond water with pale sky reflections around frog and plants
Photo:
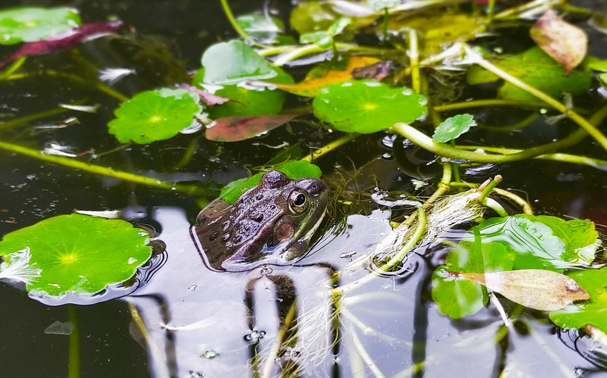
[[[230,3],[236,15],[261,10],[264,4]],[[293,4],[270,3],[287,24]],[[21,70],[68,72],[94,83],[98,69],[129,67],[136,74],[113,86],[126,96],[189,82],[189,73],[200,67],[200,55],[208,46],[237,37],[219,1],[4,0],[0,8],[17,5],[73,6],[80,10],[84,22],[106,21],[109,16],[121,19],[125,27],[118,36],[28,58]],[[580,26],[589,33],[591,52],[605,58],[600,54],[605,54],[607,37],[585,22],[580,22]],[[495,44],[506,40],[515,44],[517,33],[520,30]],[[520,49],[515,45],[510,48],[512,52]],[[14,46],[0,46],[2,57],[14,51]],[[308,68],[296,66],[287,70],[301,78]],[[308,150],[341,137],[340,132],[320,129],[312,116],[304,116],[289,127],[242,142],[217,143],[190,134],[116,149],[120,144],[107,133],[106,124],[114,117],[119,101],[86,83],[52,75],[1,81],[0,140],[33,149],[60,143],[70,146],[76,154],[90,149],[97,154],[109,151],[92,163],[163,181],[213,183],[208,187],[216,189],[247,177],[247,169],[265,165],[285,147],[299,146],[305,155]],[[461,93],[454,96],[463,101],[494,95],[495,88],[486,86],[462,87]],[[1,123],[73,101],[100,107],[97,113],[66,110],[15,127],[3,127]],[[293,107],[302,105],[295,98],[288,101]],[[594,109],[605,100],[589,91],[576,101],[579,102],[575,106]],[[476,119],[490,126],[515,124],[534,110],[480,107],[473,111]],[[64,128],[39,127],[61,123],[70,116],[76,116],[79,123]],[[466,141],[524,148],[565,137],[575,127],[569,120],[560,121],[555,127],[540,116],[532,125],[515,132],[479,127],[466,134]],[[195,154],[185,166],[176,168],[193,140],[197,141]],[[330,291],[320,290],[334,284],[335,271],[342,271],[340,285],[364,276],[365,269],[351,267],[390,232],[388,206],[368,200],[369,194],[377,192],[374,188],[413,192],[412,179],[422,180],[430,175],[436,183],[440,178],[440,170],[427,164],[433,161],[432,154],[409,152],[411,166],[407,170],[393,158],[393,143],[402,140],[395,141],[384,132],[362,135],[315,161],[324,172],[322,178],[333,187],[340,180],[351,180],[344,193],[354,192],[354,199],[347,198],[354,202],[352,209],[337,205],[333,214],[336,219],[341,212],[348,217],[342,224],[326,220],[319,240],[293,266],[259,267],[236,273],[210,271],[197,252],[190,225],[204,200],[197,202],[196,197],[179,192],[0,152],[0,235],[54,215],[70,214],[73,209],[124,209],[134,214],[135,223],[154,226],[157,239],[166,244],[166,251],[152,258],[152,268],[147,267],[153,274],[140,277],[144,285],[124,299],[70,310],[69,306],[52,301],[42,304],[26,292],[0,282],[0,377],[68,376],[69,337],[47,334],[45,329],[56,321],[73,321],[69,311],[77,313],[83,377],[252,376],[251,356],[257,356],[253,364],[259,371],[267,373],[261,376],[280,376],[273,359],[268,362],[267,356],[272,356],[272,351],[276,353],[276,345],[289,337],[290,354],[282,351],[280,362],[300,369],[303,376],[607,377],[605,349],[579,337],[577,331],[561,331],[544,312],[523,310],[520,306],[517,310],[514,303],[504,300],[507,312],[520,311],[514,327],[506,334],[495,306],[486,306],[459,320],[438,312],[430,290],[432,273],[449,251],[449,245],[441,241],[457,241],[470,223],[447,232],[440,240],[421,243],[398,272],[354,287],[340,303],[333,302]],[[590,138],[568,152],[605,157],[605,150]],[[356,174],[355,169],[359,169]],[[474,183],[503,175],[501,187],[526,198],[535,214],[588,218],[600,231],[607,224],[604,167],[524,160],[485,164],[462,173],[464,180]],[[358,196],[356,191],[367,195]],[[422,198],[432,191],[419,189],[415,194]],[[515,209],[514,205],[504,206]],[[409,203],[396,209],[395,214],[409,213],[411,209]],[[289,317],[294,303],[295,320]],[[141,322],[133,320],[129,305],[137,307]],[[334,318],[336,306],[342,309],[339,323]],[[296,322],[296,334],[281,328],[287,319]],[[141,325],[149,333],[147,342]],[[334,342],[336,336],[338,342]]]

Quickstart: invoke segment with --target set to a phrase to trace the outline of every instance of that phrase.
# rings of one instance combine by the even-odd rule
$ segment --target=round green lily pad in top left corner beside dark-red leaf
[[[80,26],[73,8],[22,7],[0,11],[0,44],[42,41]]]

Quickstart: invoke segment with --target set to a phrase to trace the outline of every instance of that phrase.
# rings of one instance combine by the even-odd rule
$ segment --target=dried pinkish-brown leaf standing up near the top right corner
[[[535,21],[530,34],[537,46],[565,66],[565,76],[586,56],[588,36],[584,30],[560,18],[555,10],[544,12]]]

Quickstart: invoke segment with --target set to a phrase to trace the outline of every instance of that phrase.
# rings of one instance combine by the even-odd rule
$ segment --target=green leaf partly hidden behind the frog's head
[[[283,172],[291,179],[304,177],[320,178],[320,175],[322,175],[320,168],[315,164],[310,164],[307,160],[289,161],[288,163],[275,166],[273,169],[280,170],[280,172]],[[222,200],[229,204],[236,202],[240,195],[259,184],[259,180],[264,173],[259,172],[249,178],[239,178],[239,180],[232,181],[223,187],[219,198],[222,198]]]

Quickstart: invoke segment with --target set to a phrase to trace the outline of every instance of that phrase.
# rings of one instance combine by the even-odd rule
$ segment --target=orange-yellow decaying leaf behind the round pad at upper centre
[[[348,66],[343,70],[332,69],[327,66],[314,67],[304,81],[297,84],[266,83],[279,89],[293,93],[298,96],[314,97],[320,92],[320,89],[330,84],[342,83],[352,79],[354,69],[369,66],[379,62],[377,58],[370,56],[353,56],[348,61]]]

